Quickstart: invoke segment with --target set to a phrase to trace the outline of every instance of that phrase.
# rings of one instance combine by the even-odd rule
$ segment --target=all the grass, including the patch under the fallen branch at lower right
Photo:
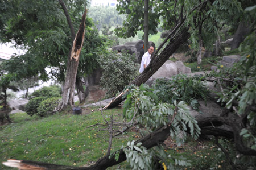
[[[89,127],[104,121],[96,108],[86,110],[96,111],[86,115],[59,113],[46,118],[30,117],[26,113],[11,114],[14,123],[0,126],[0,162],[7,159],[34,160],[76,167],[95,163],[107,152],[109,133],[104,131],[105,126]],[[112,114],[115,121],[121,121],[121,108],[105,110],[107,121]],[[140,136],[138,132],[127,131],[123,136],[113,138],[112,152],[125,146],[129,140],[137,140],[137,135]],[[172,143],[166,151],[171,157],[183,156],[192,160],[192,166],[187,169],[207,169],[215,165],[228,167],[225,157],[211,141],[188,138],[183,147]],[[129,163],[125,161],[108,169],[118,168],[130,169]],[[13,168],[1,164],[0,169]]]

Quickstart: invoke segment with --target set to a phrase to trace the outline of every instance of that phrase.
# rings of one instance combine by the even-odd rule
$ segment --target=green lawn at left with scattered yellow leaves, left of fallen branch
[[[121,109],[105,111],[107,117],[119,117]],[[0,161],[7,159],[35,160],[62,165],[89,165],[104,156],[108,149],[109,133],[98,131],[106,127],[100,111],[88,115],[55,114],[47,118],[30,117],[26,113],[10,115],[9,125],[0,127]],[[109,118],[108,118],[109,119]],[[113,139],[113,150],[118,150],[133,132]],[[0,169],[8,169],[2,164]],[[10,168],[11,169],[11,168]]]

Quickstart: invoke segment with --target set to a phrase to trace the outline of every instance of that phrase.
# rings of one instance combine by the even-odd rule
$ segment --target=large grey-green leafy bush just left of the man
[[[135,56],[127,53],[109,52],[101,55],[98,63],[102,68],[101,85],[107,90],[107,95],[115,96],[138,75],[138,64]]]

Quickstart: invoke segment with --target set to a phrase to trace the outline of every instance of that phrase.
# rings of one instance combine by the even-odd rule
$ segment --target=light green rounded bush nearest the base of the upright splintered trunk
[[[38,112],[36,114],[38,114],[40,117],[55,114],[59,99],[59,97],[52,97],[40,102]]]

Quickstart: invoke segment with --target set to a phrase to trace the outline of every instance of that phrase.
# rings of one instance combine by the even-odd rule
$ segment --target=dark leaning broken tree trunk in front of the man
[[[169,43],[167,44],[166,48],[158,55],[152,56],[150,64],[144,69],[144,71],[139,74],[138,77],[135,78],[131,84],[140,86],[142,83],[146,82],[148,78],[150,78],[158,69],[169,59],[169,57],[179,48],[181,44],[186,42],[189,38],[190,34],[187,28],[182,28],[173,38],[170,39]],[[112,108],[118,106],[119,103],[122,102],[122,95],[120,94],[118,97],[114,98],[109,105],[105,106],[103,109]]]

